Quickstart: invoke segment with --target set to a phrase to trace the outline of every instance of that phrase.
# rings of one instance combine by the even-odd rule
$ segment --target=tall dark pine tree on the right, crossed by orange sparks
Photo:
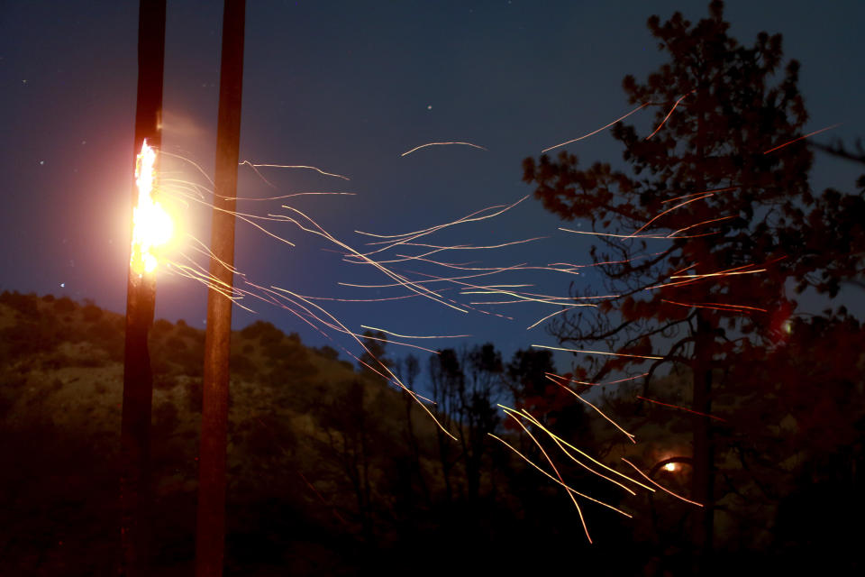
[[[790,60],[781,68],[779,34],[761,32],[753,45],[740,45],[728,35],[719,1],[697,23],[677,13],[648,24],[667,60],[644,82],[624,78],[631,103],[656,107],[655,130],[622,123],[612,130],[628,168],[596,162],[580,169],[574,154],[561,151],[555,159],[524,160],[524,180],[551,212],[591,224],[605,294],[618,295],[599,300],[596,313],[560,316],[552,327],[561,343],[622,353],[587,362],[579,380],[646,372],[642,396],[663,400],[669,392],[658,388],[658,376],[689,373],[687,397],[697,412],[684,420],[693,439],[690,494],[706,507],[694,509],[690,544],[676,546],[697,555],[691,571],[706,572],[714,563],[715,508],[741,532],[728,529],[724,546],[756,546],[746,536],[765,527],[769,514],[753,508],[760,499],[777,504],[797,483],[790,477],[796,467],[768,462],[815,457],[815,438],[826,447],[855,438],[842,424],[862,415],[861,371],[853,376],[845,367],[860,365],[861,327],[832,313],[797,317],[786,288],[835,297],[843,283],[860,281],[865,205],[861,193],[812,193],[812,154],[798,138],[807,120],[800,65]],[[628,355],[658,358],[646,366]],[[791,405],[797,390],[806,393]],[[538,392],[538,402],[555,402],[551,391]],[[829,407],[838,403],[851,413],[833,414]],[[782,422],[811,441],[784,443]],[[810,437],[808,423],[832,432]],[[785,490],[773,488],[779,482]],[[656,570],[666,569],[661,563]]]

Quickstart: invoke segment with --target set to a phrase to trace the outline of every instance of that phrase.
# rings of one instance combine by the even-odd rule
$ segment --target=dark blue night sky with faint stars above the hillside
[[[651,5],[651,8],[648,6]],[[633,108],[621,89],[660,64],[645,22],[676,10],[704,17],[697,2],[249,2],[241,124],[241,160],[309,165],[262,169],[270,188],[241,167],[241,197],[297,192],[356,196],[292,198],[330,233],[363,249],[369,237],[442,224],[478,209],[514,203],[533,189],[521,182],[521,161],[542,149],[615,120]],[[751,44],[762,30],[781,32],[788,58],[803,64],[800,87],[810,130],[843,123],[821,142],[850,143],[865,134],[860,54],[865,3],[727,2],[731,34]],[[168,0],[163,151],[213,174],[222,3]],[[0,15],[0,110],[4,206],[0,210],[2,289],[71,298],[123,311],[129,257],[132,131],[136,93],[136,2],[9,2]],[[633,120],[645,128],[651,114]],[[426,142],[434,146],[405,157]],[[620,162],[608,133],[569,147],[587,164]],[[164,158],[166,178],[205,179],[187,161]],[[818,155],[812,185],[851,190],[860,167]],[[238,210],[285,213],[281,203],[245,201]],[[196,256],[186,234],[209,243],[210,210],[178,205],[179,252]],[[269,226],[274,225],[270,223]],[[545,236],[503,249],[445,252],[442,261],[472,266],[588,263],[587,237],[529,198],[505,215],[425,237],[433,244],[488,245]],[[569,224],[571,227],[577,224]],[[586,224],[583,224],[586,226]],[[275,233],[291,248],[238,223],[235,262],[246,278],[304,295],[378,298],[402,289],[351,289],[338,282],[385,283],[369,267],[341,261],[336,248],[290,224]],[[415,249],[415,252],[419,251]],[[391,254],[403,252],[390,252]],[[467,254],[469,253],[469,254]],[[206,261],[196,256],[201,263]],[[419,263],[396,270],[448,275]],[[419,278],[419,277],[415,277]],[[566,295],[598,279],[524,271],[481,279],[532,283]],[[598,287],[598,291],[603,290]],[[461,302],[482,296],[458,296]],[[480,298],[478,298],[480,299]],[[205,288],[159,273],[157,317],[204,326]],[[255,318],[297,331],[305,343],[329,343],[295,316],[254,300],[235,309],[235,325]],[[321,302],[352,330],[360,325],[415,335],[472,334],[461,342],[494,340],[509,355],[530,343],[555,344],[542,327],[525,327],[554,310],[541,304],[481,307],[514,320],[463,314],[430,300]],[[332,332],[331,332],[332,334]],[[336,334],[337,343],[358,352]],[[460,343],[425,341],[432,348]],[[332,344],[332,343],[331,343]]]

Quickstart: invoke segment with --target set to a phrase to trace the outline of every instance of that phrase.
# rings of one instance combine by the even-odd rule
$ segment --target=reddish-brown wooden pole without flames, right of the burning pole
[[[234,262],[234,206],[241,140],[244,0],[225,0],[223,52],[216,128],[214,218],[210,274],[231,289]],[[225,552],[225,459],[228,429],[228,356],[232,301],[221,292],[207,294],[204,402],[198,460],[196,576],[223,574]]]

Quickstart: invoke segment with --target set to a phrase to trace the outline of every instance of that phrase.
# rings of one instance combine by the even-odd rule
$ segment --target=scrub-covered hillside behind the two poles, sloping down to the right
[[[183,321],[157,320],[150,333],[152,551],[163,575],[188,574],[194,558],[203,346],[204,332]],[[123,317],[5,292],[0,359],[0,433],[11,439],[0,448],[11,504],[0,556],[21,574],[111,574]],[[400,572],[431,547],[483,565],[560,513],[561,494],[500,446],[478,462],[471,497],[459,445],[442,449],[405,394],[328,347],[259,322],[232,334],[231,366],[228,574]],[[550,527],[543,538],[579,533]]]

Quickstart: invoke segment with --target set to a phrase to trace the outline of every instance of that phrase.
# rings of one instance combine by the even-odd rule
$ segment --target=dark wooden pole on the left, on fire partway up
[[[145,140],[154,148],[161,141],[162,70],[165,60],[165,0],[141,0],[138,22],[138,96],[133,152]],[[133,157],[133,168],[135,166]],[[132,186],[132,206],[138,188]],[[132,219],[130,219],[132,221]],[[132,246],[131,246],[132,253]],[[132,257],[130,258],[132,262]],[[126,336],[123,353],[123,414],[121,417],[121,549],[120,572],[131,577],[148,574],[150,540],[150,410],[153,381],[147,335],[156,302],[155,277],[130,266],[126,285]]]

